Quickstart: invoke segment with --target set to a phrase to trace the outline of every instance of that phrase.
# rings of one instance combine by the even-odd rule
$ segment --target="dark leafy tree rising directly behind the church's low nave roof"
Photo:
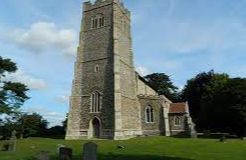
[[[179,101],[178,88],[173,85],[170,77],[165,73],[153,73],[144,78],[158,94],[165,95],[171,101]]]

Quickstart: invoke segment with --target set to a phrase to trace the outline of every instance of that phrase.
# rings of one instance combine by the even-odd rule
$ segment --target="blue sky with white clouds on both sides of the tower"
[[[0,0],[0,56],[17,63],[8,80],[26,84],[22,110],[60,124],[69,110],[83,0]],[[180,89],[214,69],[246,77],[246,0],[122,0],[132,13],[141,75],[168,74]]]

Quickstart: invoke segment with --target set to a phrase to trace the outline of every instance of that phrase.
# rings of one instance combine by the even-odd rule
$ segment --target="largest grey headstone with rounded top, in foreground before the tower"
[[[97,160],[97,144],[93,142],[84,144],[83,160]]]

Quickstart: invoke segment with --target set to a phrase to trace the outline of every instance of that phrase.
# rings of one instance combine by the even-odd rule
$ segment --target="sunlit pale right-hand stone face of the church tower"
[[[115,103],[117,139],[124,139],[141,130],[140,108],[137,104],[135,70],[133,66],[130,14],[119,3],[114,4],[114,54],[116,95]],[[120,138],[121,137],[121,138]]]

